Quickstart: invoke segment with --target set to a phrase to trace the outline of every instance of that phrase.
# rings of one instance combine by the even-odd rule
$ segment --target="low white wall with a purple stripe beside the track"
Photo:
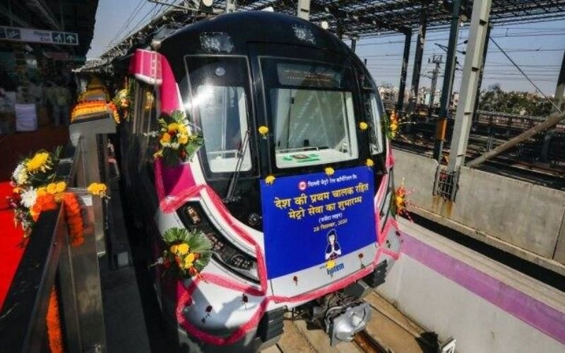
[[[413,223],[377,292],[457,352],[565,352],[565,294]]]

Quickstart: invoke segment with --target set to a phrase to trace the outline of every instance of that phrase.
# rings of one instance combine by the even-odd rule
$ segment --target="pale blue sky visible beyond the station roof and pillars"
[[[152,18],[159,16],[160,11],[164,11],[166,7],[146,0],[100,0],[96,13],[94,38],[87,57],[90,59],[100,56],[109,48],[109,44],[119,42],[133,30],[141,28]],[[468,25],[464,25],[463,28],[460,28],[458,50],[465,50],[466,44],[463,44],[463,41],[467,38],[467,35]],[[545,95],[554,94],[565,51],[565,20],[495,26],[491,35],[496,43],[533,80],[533,83],[540,88],[541,92]],[[407,85],[410,85],[412,78],[416,37],[416,35],[412,35]],[[446,46],[447,42],[448,31],[428,31],[424,45],[420,87],[429,87],[431,83],[431,80],[426,76],[430,76],[434,64],[428,64],[428,60],[434,54],[444,54],[445,61],[444,50],[436,44]],[[357,54],[362,59],[367,59],[367,67],[377,85],[392,84],[398,86],[403,48],[403,35],[376,35],[371,38],[362,38],[357,42]],[[459,53],[458,61],[460,63],[458,68],[462,68],[465,55]],[[441,65],[438,88],[441,88],[443,68],[444,65]],[[461,71],[456,71],[454,91],[459,90],[460,77]],[[482,89],[487,89],[489,85],[495,83],[499,83],[503,90],[529,92],[537,90],[518,71],[518,68],[513,66],[492,42],[489,42]]]

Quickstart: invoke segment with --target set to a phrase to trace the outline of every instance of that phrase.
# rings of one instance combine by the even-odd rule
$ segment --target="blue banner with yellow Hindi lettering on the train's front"
[[[261,181],[269,279],[376,242],[373,170],[354,167]]]

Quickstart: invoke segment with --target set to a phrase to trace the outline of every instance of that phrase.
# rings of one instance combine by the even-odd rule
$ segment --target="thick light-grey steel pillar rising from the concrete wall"
[[[459,170],[465,163],[465,153],[472,123],[472,114],[477,99],[477,85],[480,79],[484,41],[489,30],[490,5],[492,0],[475,1],[472,6],[471,27],[461,78],[460,100],[457,105],[453,137],[447,172]]]

